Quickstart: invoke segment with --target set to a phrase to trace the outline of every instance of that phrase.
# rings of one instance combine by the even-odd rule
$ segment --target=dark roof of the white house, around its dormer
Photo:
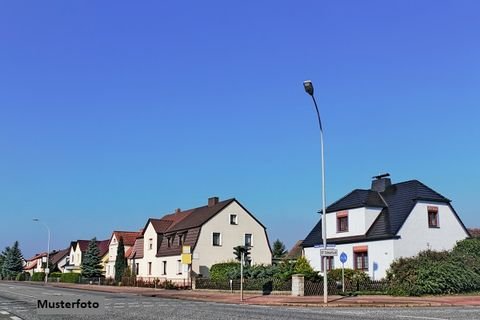
[[[418,180],[392,184],[383,192],[356,189],[331,204],[327,208],[327,214],[360,207],[377,207],[382,208],[382,211],[365,235],[329,239],[328,242],[349,243],[394,238],[419,200],[450,203],[449,199]],[[322,224],[319,221],[305,238],[303,247],[321,243]]]

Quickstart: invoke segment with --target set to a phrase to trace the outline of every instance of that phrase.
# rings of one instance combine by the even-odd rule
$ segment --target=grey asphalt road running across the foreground
[[[92,296],[105,299],[102,315],[38,315],[37,300]],[[142,297],[131,294],[87,292],[0,282],[0,320],[18,319],[395,319],[480,320],[480,308],[293,308],[209,303]]]

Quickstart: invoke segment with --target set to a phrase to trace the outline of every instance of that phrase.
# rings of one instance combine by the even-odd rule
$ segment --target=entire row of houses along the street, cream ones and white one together
[[[451,200],[418,180],[392,184],[388,174],[374,177],[370,189],[355,189],[332,203],[325,216],[327,245],[338,251],[326,258],[327,270],[344,266],[376,279],[385,277],[395,259],[427,249],[450,250],[470,236]],[[232,248],[238,245],[251,247],[253,264],[272,262],[265,226],[236,199],[212,197],[205,206],[150,218],[139,231],[113,231],[110,239],[97,242],[109,278],[115,274],[120,238],[139,278],[184,279],[190,272],[208,276],[213,264],[233,259]],[[80,272],[87,246],[87,240],[74,241],[54,253],[52,262],[61,272]],[[184,246],[191,248],[190,265],[182,263]],[[323,246],[320,220],[290,258],[303,255],[323,272]],[[26,270],[41,270],[38,261],[44,256],[34,257]]]

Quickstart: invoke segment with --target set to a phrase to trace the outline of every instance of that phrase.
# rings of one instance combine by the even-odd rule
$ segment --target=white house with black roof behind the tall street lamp
[[[392,184],[388,174],[374,177],[368,190],[356,189],[326,209],[327,246],[336,246],[338,256],[327,257],[327,270],[340,268],[346,253],[346,268],[363,270],[371,278],[386,275],[400,257],[422,250],[450,250],[469,237],[451,200],[417,180]],[[321,271],[322,222],[303,242],[305,257]]]

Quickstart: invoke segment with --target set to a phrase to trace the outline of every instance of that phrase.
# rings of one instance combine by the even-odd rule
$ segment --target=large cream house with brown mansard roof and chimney
[[[147,221],[137,237],[129,264],[142,279],[188,279],[190,271],[209,276],[210,267],[234,259],[233,248],[251,247],[253,264],[271,264],[266,228],[239,201],[208,199],[206,206],[180,210]],[[191,265],[182,263],[182,247],[189,246]]]

